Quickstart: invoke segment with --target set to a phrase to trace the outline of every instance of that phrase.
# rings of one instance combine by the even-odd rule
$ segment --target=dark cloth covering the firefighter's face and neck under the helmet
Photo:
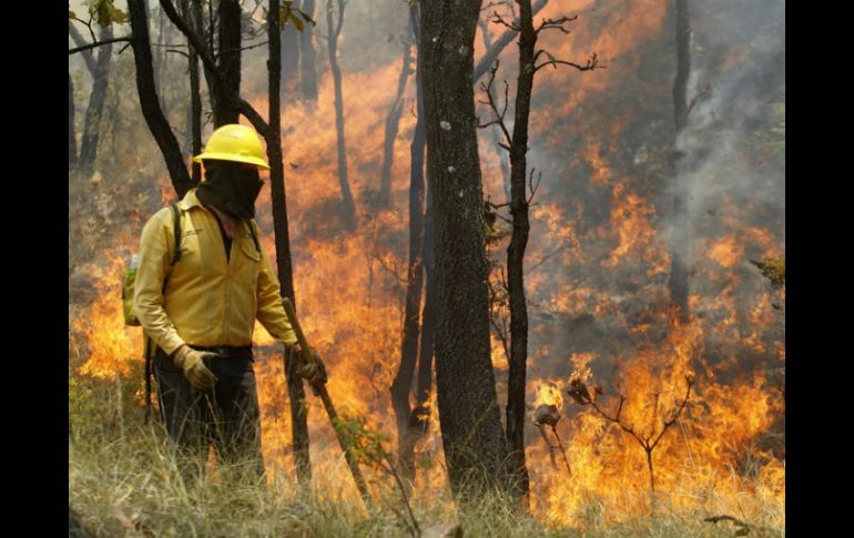
[[[255,217],[255,199],[264,182],[254,166],[231,161],[204,162],[205,181],[196,195],[205,205],[213,205],[228,215],[244,220]]]

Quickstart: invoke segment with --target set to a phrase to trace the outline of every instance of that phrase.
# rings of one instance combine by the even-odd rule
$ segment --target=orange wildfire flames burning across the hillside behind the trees
[[[539,44],[560,59],[579,60],[587,51],[597,51],[600,61],[609,65],[583,74],[546,69],[535,84],[538,101],[531,113],[529,155],[545,173],[530,207],[531,241],[526,256],[531,316],[526,402],[530,410],[543,404],[557,406],[565,419],[556,432],[572,468],[569,476],[562,467],[553,466],[549,448],[529,425],[526,455],[531,508],[547,522],[584,529],[590,521],[616,522],[650,508],[644,450],[636,438],[590,406],[566,398],[570,379],[589,387],[601,383],[603,394],[597,405],[609,414],[616,413],[619,396],[626,396],[621,422],[644,437],[662,432],[684,398],[688,375],[695,378],[689,402],[652,453],[657,496],[674,509],[699,507],[760,519],[741,504],[750,498],[755,499],[751,507],[762,506],[766,515],[776,518],[773,520],[784,520],[784,464],[767,449],[758,448],[761,437],[784,413],[782,398],[770,389],[765,377],[744,373],[742,367],[751,354],[784,365],[784,343],[775,339],[772,329],[781,318],[774,304],[784,302],[785,290],[770,292],[759,277],[751,281],[740,271],[750,258],[782,255],[782,235],[772,226],[758,224],[750,204],[721,194],[718,216],[705,229],[692,231],[692,317],[687,324],[672,321],[665,296],[670,254],[657,232],[659,221],[667,215],[659,215],[661,205],[654,202],[655,193],[647,186],[645,177],[636,176],[640,173],[632,166],[638,162],[629,158],[632,164],[627,164],[621,156],[626,130],[638,122],[634,115],[640,112],[600,109],[596,101],[597,95],[616,91],[620,84],[637,82],[631,73],[637,72],[640,55],[633,51],[647,42],[671,39],[671,30],[664,26],[665,10],[663,2],[636,1],[627,17],[624,2],[594,4],[586,0],[570,4],[552,0],[538,14],[539,19],[582,13],[572,33],[545,32]],[[584,20],[588,23],[581,23]],[[494,38],[502,30],[490,26]],[[476,49],[482,52],[479,40]],[[515,47],[508,47],[501,64],[512,69],[516,52]],[[739,54],[730,52],[731,58]],[[342,205],[331,77],[322,79],[316,104],[286,98],[282,112],[301,323],[327,365],[327,387],[338,413],[363,417],[368,427],[389,434],[392,445],[396,432],[389,420],[388,387],[399,362],[403,329],[413,88],[407,89],[394,142],[392,209],[373,211],[370,200],[379,187],[384,124],[398,72],[399,58],[388,65],[345,72],[348,179],[358,220],[355,232],[345,230],[337,220]],[[266,114],[265,101],[265,95],[251,100],[262,115]],[[572,118],[590,125],[578,155],[567,155],[568,138],[579,129],[578,124],[568,126]],[[495,148],[487,133],[481,134],[485,196],[502,202],[500,163],[507,155]],[[633,150],[631,153],[637,155]],[[657,159],[662,158],[644,146],[643,161]],[[590,169],[583,177],[577,175],[579,164]],[[100,182],[108,179],[104,174]],[[162,204],[172,201],[166,177],[156,189]],[[597,196],[603,200],[601,207],[597,207]],[[262,191],[257,207],[261,241],[274,260],[268,189]],[[140,331],[124,327],[120,312],[121,270],[135,250],[141,223],[134,221],[128,226],[111,237],[113,247],[79,268],[96,290],[91,304],[70,314],[74,345],[84,357],[79,367],[82,375],[129,375],[141,355]],[[498,257],[502,248],[495,247],[490,256]],[[623,288],[627,284],[633,287]],[[636,302],[649,315],[631,317],[629,311]],[[538,316],[557,318],[549,323],[566,338],[552,341],[550,334],[541,334],[547,323]],[[563,335],[563,322],[584,317],[604,319],[614,327],[604,336],[613,349],[607,345],[572,347],[577,335]],[[650,343],[647,336],[653,333],[661,336]],[[624,335],[626,342],[613,335]],[[272,479],[283,476],[293,480],[289,402],[281,345],[257,326],[255,346],[265,461]],[[500,379],[508,365],[495,334],[491,346]],[[499,386],[502,392],[504,385]],[[437,499],[444,497],[436,494],[447,487],[435,403],[433,393],[427,406],[434,419],[416,446],[416,458],[425,465],[418,467],[414,501],[427,509],[437,507]],[[306,404],[318,490],[331,498],[357,499],[319,400],[309,392]],[[591,514],[591,507],[600,511]]]

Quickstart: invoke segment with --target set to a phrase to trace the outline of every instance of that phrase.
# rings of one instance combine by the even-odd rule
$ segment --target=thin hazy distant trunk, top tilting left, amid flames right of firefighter
[[[338,133],[338,182],[344,203],[344,224],[348,230],[356,229],[356,205],[347,180],[347,144],[344,140],[344,95],[342,93],[340,68],[338,67],[338,37],[344,24],[344,0],[337,0],[337,20],[333,13],[334,0],[326,1],[326,27],[328,32],[329,68],[335,84],[335,129]]]

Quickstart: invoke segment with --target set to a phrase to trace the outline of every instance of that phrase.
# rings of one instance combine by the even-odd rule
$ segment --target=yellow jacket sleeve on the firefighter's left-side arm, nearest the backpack
[[[169,207],[161,210],[149,219],[142,230],[140,266],[133,293],[133,307],[142,328],[170,355],[184,344],[163,307],[163,281],[169,273],[169,255],[174,247],[171,214]]]

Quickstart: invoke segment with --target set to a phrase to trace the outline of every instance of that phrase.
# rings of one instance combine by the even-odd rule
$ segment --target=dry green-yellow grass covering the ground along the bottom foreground
[[[416,531],[393,486],[375,488],[379,497],[368,512],[358,497],[344,491],[347,476],[317,476],[314,491],[297,496],[293,478],[264,483],[235,478],[234,469],[216,467],[204,480],[180,478],[160,423],[145,426],[134,399],[139,384],[96,380],[73,375],[69,380],[69,507],[92,536],[276,536],[406,537]],[[319,473],[316,473],[321,475]],[[337,487],[336,487],[337,486]],[[384,496],[385,495],[385,496]],[[740,527],[729,520],[704,521],[700,512],[662,506],[647,515],[604,514],[590,506],[558,524],[515,514],[494,498],[476,507],[455,508],[449,494],[413,501],[423,537],[784,537],[784,517]],[[755,508],[755,507],[754,507]],[[762,512],[762,510],[754,510]],[[461,535],[431,534],[430,527],[459,525]]]

